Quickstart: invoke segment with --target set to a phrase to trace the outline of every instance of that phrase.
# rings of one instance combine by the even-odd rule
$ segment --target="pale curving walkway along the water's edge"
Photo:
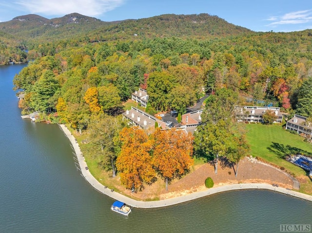
[[[76,142],[75,137],[71,134],[69,129],[63,125],[59,124],[60,129],[63,131],[65,136],[69,139],[70,143],[72,144],[72,147],[76,153],[77,160],[80,166],[81,176],[88,181],[98,192],[107,195],[113,199],[122,201],[126,203],[127,205],[130,205],[132,207],[136,208],[159,208],[159,207],[165,207],[165,206],[171,206],[176,205],[179,203],[183,203],[190,200],[195,200],[200,197],[206,197],[209,195],[213,195],[216,193],[226,192],[226,191],[232,191],[232,190],[242,190],[242,189],[265,189],[265,190],[271,190],[276,191],[282,194],[290,195],[292,197],[298,197],[301,199],[305,199],[308,201],[312,201],[312,196],[299,193],[293,190],[285,189],[282,187],[274,187],[270,184],[266,183],[238,183],[238,184],[228,184],[223,185],[215,188],[210,188],[204,191],[195,192],[192,194],[188,194],[185,196],[179,196],[179,197],[173,197],[168,198],[165,200],[157,200],[157,201],[138,201],[135,199],[132,199],[130,197],[126,197],[122,194],[119,194],[117,192],[112,191],[111,189],[105,187],[102,185],[97,179],[95,179],[89,170],[85,169],[87,167],[87,163],[84,160],[83,154],[80,150],[79,144]]]

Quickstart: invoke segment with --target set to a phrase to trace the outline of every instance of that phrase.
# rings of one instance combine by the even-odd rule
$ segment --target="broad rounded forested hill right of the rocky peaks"
[[[129,19],[114,25],[103,27],[90,35],[101,38],[117,39],[137,36],[207,38],[224,37],[252,33],[251,30],[228,23],[217,16],[199,15],[161,15],[151,18]]]

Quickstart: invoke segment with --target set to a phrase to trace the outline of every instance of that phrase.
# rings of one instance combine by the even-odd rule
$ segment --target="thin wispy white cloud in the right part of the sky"
[[[274,21],[267,26],[277,26],[282,24],[302,24],[312,21],[312,10],[295,11],[283,16],[271,16],[268,21]]]

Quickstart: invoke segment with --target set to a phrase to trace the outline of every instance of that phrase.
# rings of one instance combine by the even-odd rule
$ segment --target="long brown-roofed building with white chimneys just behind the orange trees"
[[[158,127],[166,127],[165,122],[134,107],[132,107],[130,110],[126,110],[126,112],[124,112],[122,115],[127,118],[131,124],[140,126],[143,129],[149,129],[153,131],[155,129],[155,122],[157,122]]]

